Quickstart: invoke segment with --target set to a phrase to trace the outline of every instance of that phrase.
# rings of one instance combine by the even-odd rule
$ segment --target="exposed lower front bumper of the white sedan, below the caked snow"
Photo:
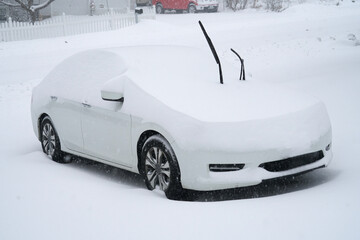
[[[263,180],[308,172],[329,165],[333,154],[331,149],[326,150],[328,145],[329,141],[323,143],[321,149],[315,151],[322,152],[323,155],[321,159],[283,171],[269,171],[263,167],[264,163],[287,161],[278,158],[280,156],[279,150],[238,154],[199,151],[188,153],[189,155],[186,154],[188,155],[187,157],[194,159],[194,161],[192,161],[193,164],[191,164],[191,167],[183,167],[181,169],[182,185],[183,188],[198,191],[220,190],[257,185]],[[286,159],[291,161],[291,159],[298,156],[299,155]],[[301,154],[301,156],[303,156],[303,154]],[[185,156],[182,155],[181,157]],[[219,159],[221,161],[219,161]],[[219,162],[226,164],[244,164],[244,166],[242,169],[236,171],[211,171],[209,168],[210,164],[219,164]]]

